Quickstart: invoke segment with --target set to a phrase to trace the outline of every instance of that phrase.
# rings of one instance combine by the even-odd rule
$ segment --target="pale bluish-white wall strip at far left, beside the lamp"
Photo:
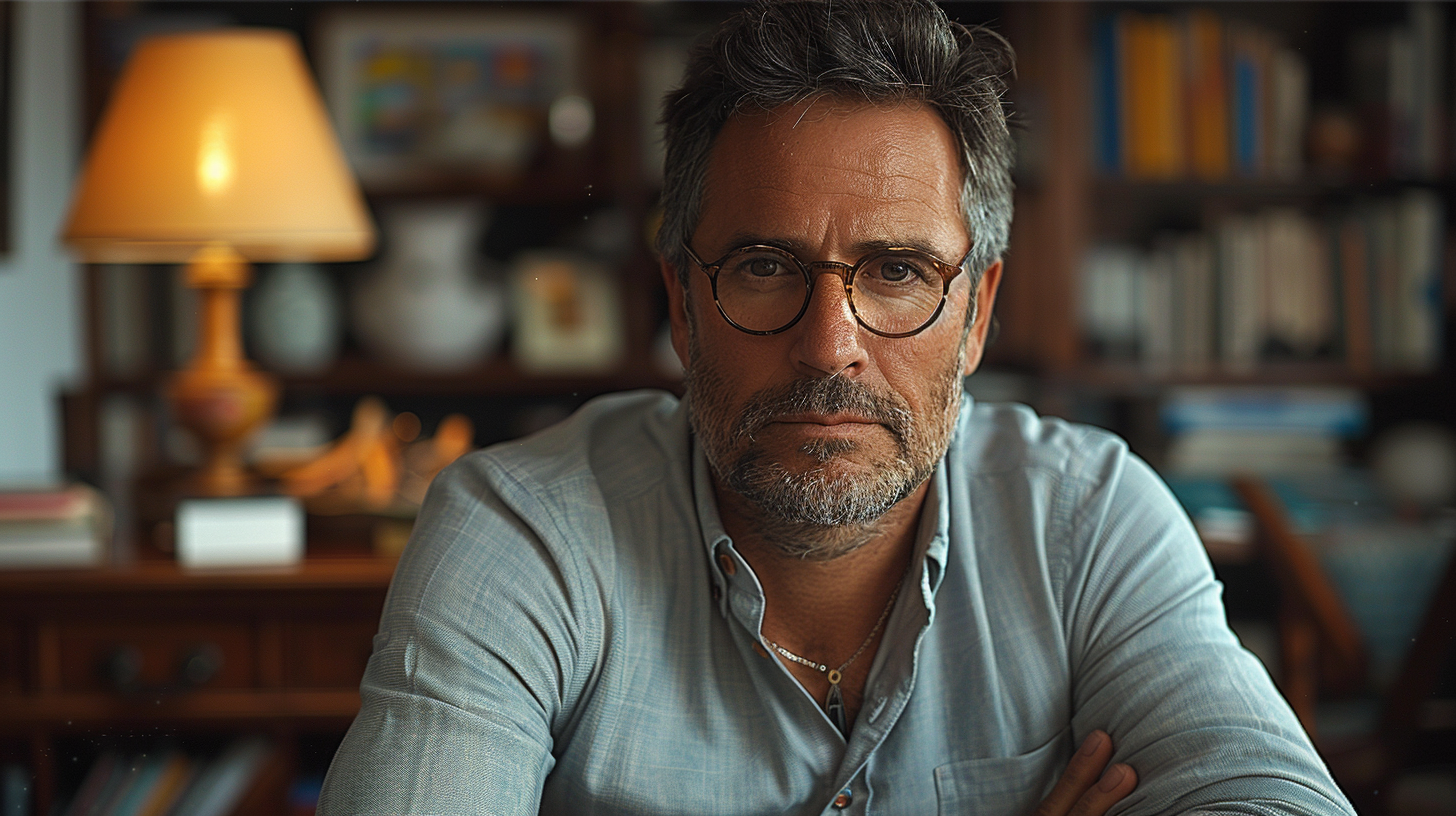
[[[61,474],[57,395],[82,376],[82,297],[57,233],[80,154],[76,3],[13,6],[10,252],[0,256],[0,485]]]

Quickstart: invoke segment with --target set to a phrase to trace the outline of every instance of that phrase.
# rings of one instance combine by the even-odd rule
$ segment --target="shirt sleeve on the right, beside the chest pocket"
[[[1340,793],[1262,663],[1176,500],[1136,456],[1069,482],[1064,593],[1073,730],[1139,775],[1114,815],[1331,815]]]

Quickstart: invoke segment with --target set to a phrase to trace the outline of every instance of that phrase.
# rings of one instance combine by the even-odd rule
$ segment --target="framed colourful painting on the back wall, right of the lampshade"
[[[579,32],[559,12],[341,9],[316,32],[323,95],[365,187],[517,176],[552,102],[578,93]]]

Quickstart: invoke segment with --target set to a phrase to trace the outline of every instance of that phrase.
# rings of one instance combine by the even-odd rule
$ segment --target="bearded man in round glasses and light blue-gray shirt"
[[[695,52],[687,398],[437,481],[322,813],[1351,812],[1147,466],[962,396],[1010,70],[923,0],[756,4]]]

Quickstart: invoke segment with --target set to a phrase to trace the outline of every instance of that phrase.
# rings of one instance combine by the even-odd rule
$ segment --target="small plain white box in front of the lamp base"
[[[280,567],[303,560],[303,506],[284,495],[178,504],[183,567]]]

